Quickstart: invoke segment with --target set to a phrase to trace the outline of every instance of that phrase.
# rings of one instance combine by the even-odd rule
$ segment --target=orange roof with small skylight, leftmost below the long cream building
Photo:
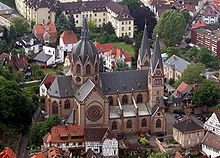
[[[43,36],[46,32],[49,33],[51,38],[57,37],[57,30],[55,24],[34,25],[34,35],[38,39],[43,39]]]

